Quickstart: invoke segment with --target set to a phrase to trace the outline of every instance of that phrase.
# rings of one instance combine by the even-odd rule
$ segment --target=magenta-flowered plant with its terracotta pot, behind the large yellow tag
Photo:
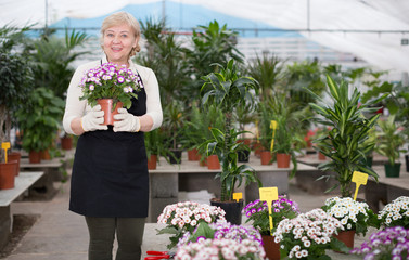
[[[251,223],[258,230],[263,237],[263,244],[269,259],[280,259],[280,245],[274,243],[272,233],[283,219],[293,219],[299,214],[298,205],[295,202],[279,195],[278,200],[271,205],[272,230],[270,230],[269,210],[266,202],[259,199],[247,204],[243,213],[247,217],[246,223]]]

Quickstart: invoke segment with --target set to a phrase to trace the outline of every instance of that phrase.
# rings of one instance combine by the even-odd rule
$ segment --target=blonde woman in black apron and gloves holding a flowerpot
[[[115,234],[116,260],[141,257],[148,217],[149,174],[143,132],[162,123],[158,84],[152,69],[130,60],[140,51],[140,26],[130,14],[118,12],[101,27],[100,61],[81,65],[68,87],[64,129],[80,135],[71,186],[69,210],[85,216],[90,235],[90,260],[112,259]],[[114,126],[103,126],[103,110],[90,107],[79,87],[84,73],[102,63],[126,65],[142,78],[143,87],[129,109],[119,108]]]

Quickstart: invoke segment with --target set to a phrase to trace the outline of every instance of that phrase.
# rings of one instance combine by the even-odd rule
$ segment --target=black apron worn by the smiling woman
[[[146,113],[144,88],[128,109]],[[86,132],[79,136],[71,180],[69,210],[100,218],[146,218],[149,172],[143,132]]]

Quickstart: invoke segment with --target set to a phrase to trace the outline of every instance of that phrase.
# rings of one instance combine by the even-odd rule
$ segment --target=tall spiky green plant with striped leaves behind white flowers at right
[[[327,76],[327,84],[330,102],[307,89],[318,101],[317,104],[310,103],[312,109],[321,116],[315,118],[315,121],[331,127],[328,135],[315,141],[318,151],[331,158],[318,168],[323,171],[334,171],[338,183],[331,190],[340,186],[341,195],[348,197],[352,195],[354,171],[366,172],[378,179],[378,174],[365,162],[366,154],[372,144],[367,143],[366,146],[361,144],[368,139],[370,129],[379,118],[379,114],[366,118],[365,113],[375,112],[378,108],[371,106],[384,96],[359,104],[360,92],[356,88],[349,95],[348,84],[345,81],[338,84],[330,76]]]

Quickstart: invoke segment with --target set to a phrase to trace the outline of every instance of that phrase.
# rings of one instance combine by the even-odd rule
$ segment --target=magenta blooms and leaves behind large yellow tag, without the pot
[[[266,202],[259,199],[247,204],[243,213],[247,217],[246,223],[251,223],[261,235],[271,235],[283,219],[294,219],[299,214],[298,205],[283,195],[271,206],[272,230],[270,230],[269,212]]]

